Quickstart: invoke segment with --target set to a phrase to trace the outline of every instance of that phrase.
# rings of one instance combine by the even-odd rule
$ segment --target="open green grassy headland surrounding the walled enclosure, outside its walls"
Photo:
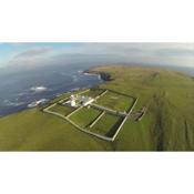
[[[0,150],[194,150],[194,80],[191,76],[160,68],[121,65],[93,68],[90,72],[109,74],[110,81],[101,84],[101,89],[137,98],[133,112],[147,108],[142,120],[127,119],[115,141],[106,142],[35,108],[0,119]]]

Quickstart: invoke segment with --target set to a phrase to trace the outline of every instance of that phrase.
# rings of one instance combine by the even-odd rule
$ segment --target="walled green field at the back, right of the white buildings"
[[[108,91],[104,95],[98,99],[96,103],[116,111],[129,111],[134,103],[134,99]]]

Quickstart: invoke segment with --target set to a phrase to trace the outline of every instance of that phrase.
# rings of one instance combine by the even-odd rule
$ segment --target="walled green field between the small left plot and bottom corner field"
[[[81,127],[89,126],[100,114],[102,111],[99,111],[93,108],[82,108],[74,114],[70,116],[70,120],[72,120],[75,124],[78,124]]]

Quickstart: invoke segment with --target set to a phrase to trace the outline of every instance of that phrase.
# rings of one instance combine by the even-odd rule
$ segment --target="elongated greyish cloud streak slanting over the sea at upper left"
[[[45,54],[53,49],[51,47],[42,47],[42,48],[34,48],[31,50],[23,51],[14,57],[14,59],[27,59],[27,58],[33,58],[33,57],[40,57],[42,54]]]

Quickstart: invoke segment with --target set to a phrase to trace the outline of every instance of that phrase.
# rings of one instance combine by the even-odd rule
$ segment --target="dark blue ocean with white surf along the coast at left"
[[[103,82],[84,74],[84,65],[42,67],[30,71],[0,74],[0,116],[29,109],[33,102],[51,100],[61,93]]]

